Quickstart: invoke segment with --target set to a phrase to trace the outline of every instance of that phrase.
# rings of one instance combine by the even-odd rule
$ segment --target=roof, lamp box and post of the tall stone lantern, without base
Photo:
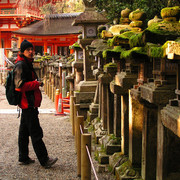
[[[83,0],[85,5],[85,11],[81,13],[73,22],[73,26],[82,26],[82,39],[78,40],[80,47],[83,49],[83,65],[84,65],[84,80],[93,80],[91,71],[91,62],[89,60],[89,53],[86,50],[86,46],[97,37],[97,28],[99,25],[106,24],[107,19],[96,12],[94,6],[96,1]]]

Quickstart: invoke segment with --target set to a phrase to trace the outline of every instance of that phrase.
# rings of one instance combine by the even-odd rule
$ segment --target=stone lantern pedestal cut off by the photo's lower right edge
[[[158,180],[180,179],[180,109],[167,105],[161,110],[158,121]]]

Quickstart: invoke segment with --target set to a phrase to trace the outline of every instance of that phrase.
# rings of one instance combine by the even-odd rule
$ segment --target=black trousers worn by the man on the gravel
[[[38,114],[37,108],[22,109],[18,137],[19,161],[24,162],[29,158],[28,144],[30,136],[36,156],[43,166],[48,160],[48,153],[42,140],[43,131],[39,123]]]

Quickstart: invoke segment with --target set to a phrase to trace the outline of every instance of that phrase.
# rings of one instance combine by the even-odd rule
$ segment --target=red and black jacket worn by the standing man
[[[42,101],[39,82],[32,62],[33,59],[27,59],[23,55],[18,55],[15,62],[14,83],[16,90],[22,92],[19,104],[22,109],[40,107]]]

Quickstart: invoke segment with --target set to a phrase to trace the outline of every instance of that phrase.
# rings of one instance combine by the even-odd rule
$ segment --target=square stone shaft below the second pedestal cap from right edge
[[[142,178],[156,179],[157,161],[157,113],[158,108],[153,104],[145,104],[142,129]]]

